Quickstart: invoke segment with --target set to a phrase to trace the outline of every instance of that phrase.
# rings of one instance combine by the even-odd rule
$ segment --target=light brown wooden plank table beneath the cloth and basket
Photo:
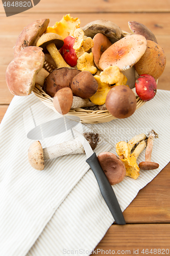
[[[2,120],[13,98],[6,85],[5,71],[13,59],[13,46],[17,36],[23,27],[36,19],[50,18],[50,25],[53,26],[67,13],[70,13],[72,17],[79,17],[81,26],[101,18],[111,20],[125,31],[129,31],[128,21],[135,20],[146,25],[157,37],[158,44],[164,49],[167,57],[164,73],[159,78],[158,89],[170,90],[169,12],[169,0],[41,0],[37,6],[26,12],[6,17],[1,2],[0,119]],[[115,251],[115,254],[120,255],[130,254],[130,252],[138,255],[144,255],[147,252],[149,255],[160,255],[167,254],[166,249],[168,249],[170,254],[169,192],[170,163],[161,170],[153,181],[139,191],[136,198],[124,211],[127,225],[113,224],[95,248],[95,252],[98,249],[98,255],[103,255],[103,249],[108,250],[106,253],[109,253],[110,250],[110,254],[111,251],[112,253]]]

